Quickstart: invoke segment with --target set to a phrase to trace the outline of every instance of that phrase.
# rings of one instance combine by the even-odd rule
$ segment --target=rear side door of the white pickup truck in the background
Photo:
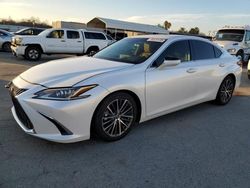
[[[67,30],[67,50],[69,53],[83,53],[83,39],[80,31]]]

